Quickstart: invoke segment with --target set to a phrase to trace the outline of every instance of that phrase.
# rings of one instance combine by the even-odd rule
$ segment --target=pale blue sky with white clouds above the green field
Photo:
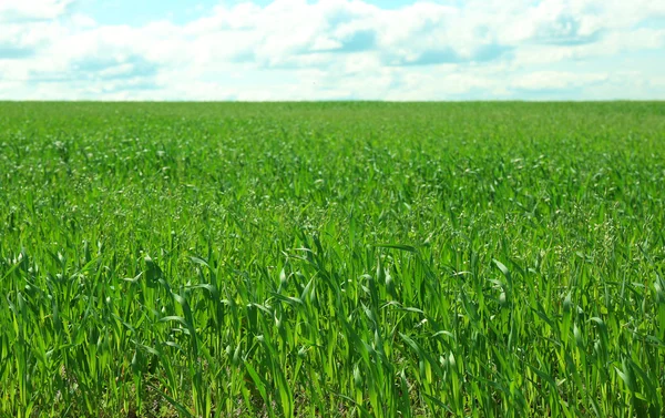
[[[0,100],[665,100],[662,0],[1,0]]]

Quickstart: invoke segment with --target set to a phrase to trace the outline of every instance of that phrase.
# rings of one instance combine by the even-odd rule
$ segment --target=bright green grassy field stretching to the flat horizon
[[[7,417],[662,417],[665,103],[0,103]]]

